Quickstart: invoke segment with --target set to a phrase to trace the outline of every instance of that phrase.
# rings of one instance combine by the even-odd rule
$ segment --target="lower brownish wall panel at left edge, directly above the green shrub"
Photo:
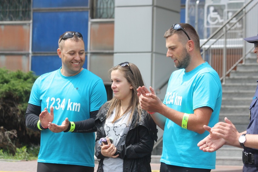
[[[0,68],[28,72],[29,57],[26,55],[0,55]]]

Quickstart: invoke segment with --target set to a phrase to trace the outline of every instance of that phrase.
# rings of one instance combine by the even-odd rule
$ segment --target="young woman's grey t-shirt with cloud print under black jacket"
[[[120,117],[117,121],[112,124],[112,121],[115,117],[115,110],[113,114],[106,119],[104,130],[106,136],[113,139],[113,144],[116,147],[120,147],[121,145],[125,144],[125,137],[129,131],[131,126],[131,121],[128,123],[129,114],[124,114]],[[103,160],[103,171],[112,171],[112,172],[121,172],[123,171],[123,159],[121,158],[112,158],[107,157]]]

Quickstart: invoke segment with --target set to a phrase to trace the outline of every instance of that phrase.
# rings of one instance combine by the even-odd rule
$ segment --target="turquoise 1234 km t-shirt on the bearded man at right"
[[[193,114],[193,110],[210,107],[213,113],[209,126],[219,120],[222,87],[217,72],[205,62],[190,72],[184,69],[174,71],[169,79],[163,101],[167,107],[183,113]],[[203,152],[197,143],[209,134],[183,129],[167,119],[163,134],[163,151],[160,162],[191,168],[215,169],[216,152]]]

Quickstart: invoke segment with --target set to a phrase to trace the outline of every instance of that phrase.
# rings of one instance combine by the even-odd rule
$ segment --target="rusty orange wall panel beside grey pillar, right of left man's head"
[[[114,50],[114,23],[91,23],[91,51]]]

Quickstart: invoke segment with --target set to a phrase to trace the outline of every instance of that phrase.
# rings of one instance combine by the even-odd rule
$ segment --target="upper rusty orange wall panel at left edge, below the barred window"
[[[1,25],[0,51],[29,51],[29,25]]]

